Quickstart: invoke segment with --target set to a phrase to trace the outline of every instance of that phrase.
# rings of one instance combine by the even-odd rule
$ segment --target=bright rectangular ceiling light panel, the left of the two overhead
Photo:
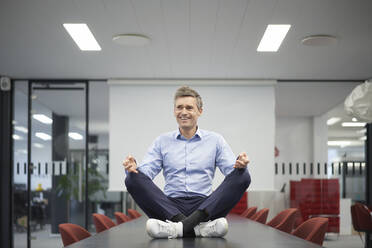
[[[89,27],[85,23],[65,23],[63,27],[67,30],[76,45],[82,51],[101,51],[97,40],[94,38]]]

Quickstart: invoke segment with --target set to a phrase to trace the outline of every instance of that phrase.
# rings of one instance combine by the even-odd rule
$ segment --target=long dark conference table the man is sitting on
[[[74,243],[70,248],[319,248],[321,246],[284,233],[267,225],[229,215],[229,232],[224,238],[152,239],[146,233],[147,217],[125,222],[89,238]]]

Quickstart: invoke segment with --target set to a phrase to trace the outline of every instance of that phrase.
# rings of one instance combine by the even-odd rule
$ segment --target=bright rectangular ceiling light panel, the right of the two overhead
[[[291,25],[267,25],[257,52],[277,52],[290,28]]]

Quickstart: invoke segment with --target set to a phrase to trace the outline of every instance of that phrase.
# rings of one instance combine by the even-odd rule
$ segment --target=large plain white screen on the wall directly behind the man
[[[219,86],[211,82],[200,86],[200,81],[174,81],[168,85],[142,82],[109,82],[110,190],[125,189],[121,163],[127,154],[141,160],[159,134],[177,129],[173,96],[183,84],[191,85],[203,98],[200,128],[222,134],[235,154],[246,151],[250,156],[250,189],[274,189],[275,82],[247,81],[232,86],[222,86],[231,85],[231,81],[216,81]],[[218,173],[215,179],[217,185],[223,177]],[[163,188],[162,176],[155,182]]]

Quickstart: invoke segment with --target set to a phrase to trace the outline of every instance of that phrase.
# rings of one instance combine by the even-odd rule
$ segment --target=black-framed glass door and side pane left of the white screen
[[[26,92],[27,121],[15,109],[25,137],[14,149],[14,192],[24,200],[14,201],[14,247],[25,241],[27,247],[60,247],[59,224],[88,226],[88,82],[29,81]]]

